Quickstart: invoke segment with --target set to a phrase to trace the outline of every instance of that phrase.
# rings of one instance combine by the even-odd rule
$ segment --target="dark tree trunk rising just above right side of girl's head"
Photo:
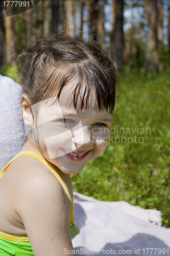
[[[115,25],[112,31],[111,44],[114,46],[115,62],[119,68],[124,65],[123,58],[123,47],[124,47],[124,33],[123,33],[123,11],[124,11],[124,0],[114,0],[115,5]]]

